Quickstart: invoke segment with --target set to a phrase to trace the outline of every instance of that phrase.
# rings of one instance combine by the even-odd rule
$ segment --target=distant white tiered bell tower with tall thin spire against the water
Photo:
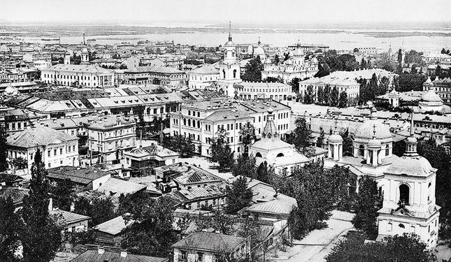
[[[227,96],[235,96],[234,84],[241,82],[240,63],[236,58],[236,45],[231,38],[229,22],[229,41],[224,44],[224,60],[220,64],[220,78],[217,80],[217,91]]]

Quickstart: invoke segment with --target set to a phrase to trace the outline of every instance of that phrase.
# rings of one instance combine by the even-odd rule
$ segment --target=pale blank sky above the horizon
[[[0,0],[1,22],[451,22],[450,0]]]

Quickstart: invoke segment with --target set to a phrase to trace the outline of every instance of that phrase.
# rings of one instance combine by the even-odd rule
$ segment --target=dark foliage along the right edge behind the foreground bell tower
[[[436,173],[436,204],[441,206],[440,224],[438,233],[445,240],[451,239],[451,156],[445,148],[436,145],[435,140],[424,140],[418,143],[418,154],[426,158]]]

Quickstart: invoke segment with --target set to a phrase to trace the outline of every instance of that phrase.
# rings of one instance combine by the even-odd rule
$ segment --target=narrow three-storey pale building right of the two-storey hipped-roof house
[[[127,117],[99,117],[87,127],[91,159],[99,163],[118,163],[124,150],[135,147],[135,122]]]

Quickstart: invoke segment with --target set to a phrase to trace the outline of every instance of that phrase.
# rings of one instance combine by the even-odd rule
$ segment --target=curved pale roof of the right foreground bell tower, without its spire
[[[431,173],[435,173],[436,168],[431,166],[431,163],[424,157],[408,157],[403,156],[396,159],[392,165],[385,171],[385,173],[393,175],[410,175],[415,177],[427,177]]]

